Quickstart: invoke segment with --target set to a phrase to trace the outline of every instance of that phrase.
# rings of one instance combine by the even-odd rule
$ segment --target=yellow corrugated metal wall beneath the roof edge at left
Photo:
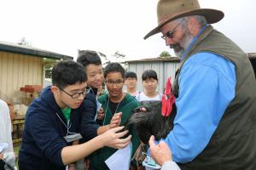
[[[27,84],[43,84],[43,58],[0,51],[0,98],[13,99]]]

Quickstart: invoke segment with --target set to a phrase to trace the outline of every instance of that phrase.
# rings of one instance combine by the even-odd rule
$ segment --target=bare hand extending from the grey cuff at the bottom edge
[[[152,135],[148,144],[150,146],[150,156],[160,166],[163,166],[166,161],[172,161],[172,152],[165,142],[160,141],[159,144],[154,144],[154,136]]]

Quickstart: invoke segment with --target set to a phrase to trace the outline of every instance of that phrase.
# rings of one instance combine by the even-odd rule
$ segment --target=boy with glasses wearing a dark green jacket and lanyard
[[[123,86],[125,82],[125,69],[119,63],[110,63],[104,69],[104,77],[109,94],[103,94],[100,96],[99,102],[102,103],[102,109],[104,110],[105,116],[102,120],[102,125],[108,125],[111,123],[111,119],[114,115],[122,112],[120,125],[131,115],[131,111],[137,108],[139,105],[137,100],[130,94],[123,93]],[[137,133],[131,130],[132,134],[132,154],[134,155],[139,145],[139,139]],[[90,169],[104,170],[108,169],[105,161],[109,156],[113,155],[115,149],[104,147],[101,150],[97,150],[91,157]],[[127,157],[127,159],[131,159]]]

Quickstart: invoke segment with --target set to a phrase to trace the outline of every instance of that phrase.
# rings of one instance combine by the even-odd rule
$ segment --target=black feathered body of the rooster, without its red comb
[[[176,105],[172,105],[172,112],[169,116],[161,115],[161,101],[143,101],[142,106],[133,111],[131,116],[125,122],[124,130],[136,128],[137,135],[143,144],[148,144],[151,135],[156,140],[166,138],[173,128],[173,121],[176,116]],[[142,111],[142,107],[146,111]]]

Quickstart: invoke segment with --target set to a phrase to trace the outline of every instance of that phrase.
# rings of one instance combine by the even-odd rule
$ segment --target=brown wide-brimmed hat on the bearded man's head
[[[160,0],[157,4],[158,26],[149,31],[144,39],[160,32],[166,23],[190,15],[203,15],[208,24],[222,20],[224,13],[212,8],[200,8],[197,0]]]

